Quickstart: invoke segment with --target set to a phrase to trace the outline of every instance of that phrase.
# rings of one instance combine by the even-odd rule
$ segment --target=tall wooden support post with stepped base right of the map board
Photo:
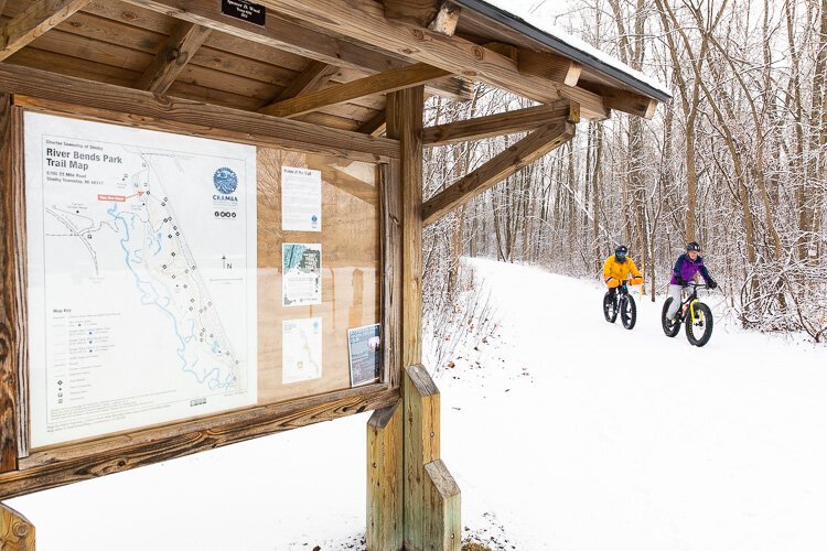
[[[395,361],[410,367],[401,377],[400,411],[376,412],[368,422],[368,550],[459,551],[461,545],[460,490],[439,456],[439,390],[425,367],[419,365],[422,354],[423,102],[422,86],[406,88],[388,95],[386,110],[387,134],[399,140],[400,154],[399,161],[390,161],[386,177],[383,177],[384,229],[390,230],[391,237],[396,236],[386,236],[383,257],[385,278],[398,281],[402,301],[401,317],[394,326],[386,324],[385,328],[398,331],[398,325],[401,325],[401,354],[394,357]],[[394,234],[396,220],[399,228]],[[394,250],[401,253],[401,262]],[[396,288],[388,289],[386,283],[386,299],[393,296],[394,293],[388,294],[393,289]],[[393,303],[386,300],[385,307]],[[399,365],[387,368],[391,374],[400,370]],[[391,375],[391,386],[393,378]],[[399,437],[394,424],[397,417],[401,417],[401,447],[395,440]],[[402,462],[401,471],[397,472],[399,461]],[[397,515],[395,507],[399,504],[397,493],[401,495],[401,527],[393,521]]]

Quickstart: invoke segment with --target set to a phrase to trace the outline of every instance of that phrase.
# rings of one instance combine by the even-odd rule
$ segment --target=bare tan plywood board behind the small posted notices
[[[322,171],[322,231],[281,230],[281,169]],[[373,197],[357,198],[330,182],[345,173]],[[379,323],[379,212],[376,168],[319,155],[258,150],[258,391],[259,403],[351,386],[347,328]],[[369,190],[373,193],[369,193]],[[282,306],[282,244],[322,246],[322,304]],[[322,378],[282,385],[282,322],[322,318]]]

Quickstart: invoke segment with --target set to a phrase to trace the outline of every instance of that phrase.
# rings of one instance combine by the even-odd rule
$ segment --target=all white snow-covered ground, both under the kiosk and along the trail
[[[597,283],[473,264],[500,331],[437,375],[466,536],[508,550],[827,549],[827,348],[723,321],[696,348],[663,335],[659,303],[638,298],[630,332],[603,321]],[[367,419],[8,505],[41,551],[362,549]]]

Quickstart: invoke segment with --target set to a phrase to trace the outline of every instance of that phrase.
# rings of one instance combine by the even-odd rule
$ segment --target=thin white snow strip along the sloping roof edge
[[[528,12],[528,10],[525,7],[514,6],[514,2],[509,0],[459,0],[458,3],[465,4],[465,3],[471,3],[471,2],[476,3],[476,4],[486,4],[500,11],[503,15],[509,19],[519,21],[520,23],[526,24],[528,26],[531,26],[535,30],[547,35],[549,39],[560,42],[565,45],[568,45],[571,48],[577,50],[581,54],[592,57],[598,63],[601,63],[610,68],[615,69],[619,73],[622,73],[633,78],[634,80],[637,80],[640,84],[643,84],[652,88],[653,91],[656,91],[656,93],[659,93],[660,95],[666,96],[666,98],[659,99],[660,101],[672,98],[672,93],[669,91],[669,88],[666,85],[662,84],[656,78],[649,77],[645,75],[644,73],[630,67],[625,63],[622,63],[620,60],[612,57],[605,52],[592,46],[588,42],[581,39],[578,39],[577,36],[572,36],[571,34],[567,33],[566,31],[562,31],[561,29],[550,23],[540,21],[536,14]],[[508,6],[508,4],[512,4],[512,6]],[[600,67],[594,67],[594,68],[599,69]],[[658,99],[658,98],[655,98],[655,99]]]

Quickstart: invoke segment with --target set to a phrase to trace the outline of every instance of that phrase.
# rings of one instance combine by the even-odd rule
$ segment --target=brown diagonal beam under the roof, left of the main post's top
[[[378,73],[352,83],[340,84],[324,90],[286,99],[269,105],[260,109],[259,112],[273,117],[297,117],[323,107],[344,104],[351,99],[409,88],[445,75],[448,75],[448,72],[444,69],[418,63],[409,67]]]

